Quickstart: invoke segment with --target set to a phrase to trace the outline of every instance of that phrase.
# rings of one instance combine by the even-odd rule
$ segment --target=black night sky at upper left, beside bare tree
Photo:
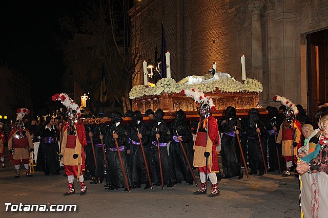
[[[31,81],[34,111],[62,92],[65,67],[56,51],[58,19],[76,14],[78,0],[1,1],[0,59]]]

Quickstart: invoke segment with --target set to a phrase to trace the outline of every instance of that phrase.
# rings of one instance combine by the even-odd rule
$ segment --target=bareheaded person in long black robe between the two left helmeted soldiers
[[[50,173],[59,175],[59,146],[54,120],[47,117],[44,126],[40,129],[40,144],[37,152],[36,170],[44,171],[46,176]]]

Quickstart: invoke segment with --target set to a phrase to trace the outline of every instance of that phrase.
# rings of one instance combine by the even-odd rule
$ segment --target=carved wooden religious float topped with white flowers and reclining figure
[[[220,74],[216,73],[211,79],[192,84],[178,84],[173,78],[162,78],[154,87],[136,85],[130,92],[132,110],[145,113],[148,109],[156,111],[161,108],[170,116],[182,109],[191,118],[197,115],[197,106],[202,98],[211,99],[215,116],[221,116],[228,106],[235,107],[238,115],[247,115],[250,108],[260,107],[258,103],[263,86],[259,81],[249,78],[239,82],[229,74],[224,78]],[[190,94],[190,91],[196,94]],[[198,100],[198,97],[201,99]],[[259,111],[265,110],[259,108]]]

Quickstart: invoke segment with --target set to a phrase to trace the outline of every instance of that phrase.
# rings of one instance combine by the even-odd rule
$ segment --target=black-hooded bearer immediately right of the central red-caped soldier
[[[236,137],[236,130],[238,130],[238,134],[239,132],[241,134],[242,130],[234,107],[227,107],[226,117],[219,126],[219,130],[223,133],[221,139],[223,178],[238,177],[238,179],[242,179],[243,172],[241,171],[240,164],[240,149]]]

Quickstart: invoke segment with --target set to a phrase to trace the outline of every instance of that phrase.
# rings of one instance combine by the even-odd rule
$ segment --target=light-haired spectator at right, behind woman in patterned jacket
[[[321,131],[320,129],[314,130],[311,124],[304,124],[302,126],[302,133],[305,140],[303,146],[298,148],[298,156],[300,158],[305,157],[315,150],[320,138]]]

